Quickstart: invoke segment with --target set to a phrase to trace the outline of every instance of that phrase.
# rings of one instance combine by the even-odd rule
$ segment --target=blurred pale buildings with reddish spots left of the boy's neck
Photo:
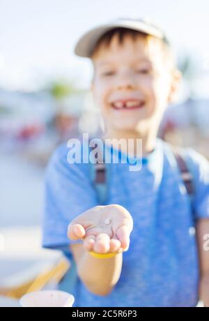
[[[86,96],[79,91],[56,99],[48,91],[0,89],[0,152],[15,151],[45,165],[58,144],[79,137],[81,118],[89,122]]]

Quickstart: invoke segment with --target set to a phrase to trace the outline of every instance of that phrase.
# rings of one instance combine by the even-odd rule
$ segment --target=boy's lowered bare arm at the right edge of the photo
[[[199,264],[201,276],[209,276],[209,246],[206,236],[209,235],[209,218],[204,218],[196,224],[196,237],[199,246]]]

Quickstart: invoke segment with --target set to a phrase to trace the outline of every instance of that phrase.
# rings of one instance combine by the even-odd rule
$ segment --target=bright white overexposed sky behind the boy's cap
[[[114,18],[149,17],[178,57],[199,61],[207,95],[208,13],[208,0],[0,0],[0,87],[30,91],[62,78],[88,87],[90,61],[73,54],[79,36]]]

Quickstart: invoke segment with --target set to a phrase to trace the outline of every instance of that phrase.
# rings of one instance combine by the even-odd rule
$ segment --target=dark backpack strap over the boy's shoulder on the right
[[[172,147],[172,150],[173,150],[173,155],[176,158],[176,163],[180,170],[181,178],[183,180],[183,183],[185,184],[187,194],[190,197],[192,197],[192,195],[194,195],[194,184],[193,184],[192,173],[189,171],[186,160],[183,157],[182,153],[180,153],[180,149],[176,149],[176,148],[174,149]]]

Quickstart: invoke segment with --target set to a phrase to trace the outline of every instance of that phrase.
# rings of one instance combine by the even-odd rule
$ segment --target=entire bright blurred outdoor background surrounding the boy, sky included
[[[73,54],[77,38],[118,17],[160,24],[183,81],[159,135],[209,158],[208,12],[207,0],[0,0],[0,293],[25,282],[23,266],[57,262],[40,250],[45,165],[58,144],[99,129],[91,63]]]

